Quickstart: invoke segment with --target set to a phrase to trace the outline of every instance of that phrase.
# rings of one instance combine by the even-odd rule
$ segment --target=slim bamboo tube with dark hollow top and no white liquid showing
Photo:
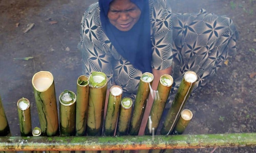
[[[81,75],[76,82],[76,116],[75,116],[75,131],[76,136],[85,136],[89,81],[88,77]]]

